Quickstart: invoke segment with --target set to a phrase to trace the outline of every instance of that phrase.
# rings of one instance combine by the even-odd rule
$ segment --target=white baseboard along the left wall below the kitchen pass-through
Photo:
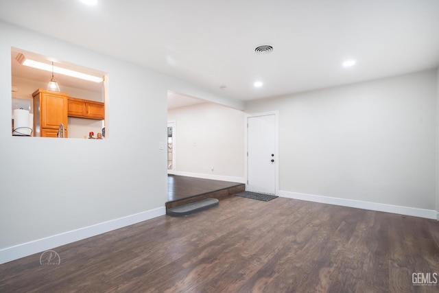
[[[35,253],[40,253],[45,250],[56,248],[58,246],[86,239],[88,237],[113,231],[118,228],[143,222],[145,220],[150,220],[152,218],[156,218],[160,215],[165,214],[165,207],[159,207],[150,211],[143,211],[141,213],[128,215],[123,218],[110,220],[84,228],[79,228],[73,231],[60,233],[58,235],[53,235],[42,239],[36,239],[34,241],[26,242],[16,246],[3,248],[0,249],[0,264],[6,263],[8,261],[13,261],[15,259],[20,259],[21,257],[27,257],[28,255],[34,255]]]

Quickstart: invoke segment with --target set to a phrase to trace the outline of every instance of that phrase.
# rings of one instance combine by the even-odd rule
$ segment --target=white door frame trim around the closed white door
[[[274,161],[276,162],[275,166],[275,172],[276,172],[276,196],[278,196],[279,191],[279,111],[269,111],[269,112],[262,112],[262,113],[246,113],[244,115],[244,172],[246,174],[246,190],[247,190],[247,183],[248,183],[248,118],[250,117],[258,117],[258,116],[267,116],[267,115],[274,115],[274,128],[275,128],[275,134],[274,134],[274,150],[276,150],[276,153],[274,154]]]

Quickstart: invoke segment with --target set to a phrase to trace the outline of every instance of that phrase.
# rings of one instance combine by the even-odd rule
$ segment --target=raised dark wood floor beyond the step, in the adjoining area
[[[168,175],[167,198],[169,202],[182,200],[238,185],[242,185],[242,183]]]

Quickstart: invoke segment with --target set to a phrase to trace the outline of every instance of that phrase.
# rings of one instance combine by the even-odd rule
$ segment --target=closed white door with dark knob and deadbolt
[[[247,190],[276,194],[275,115],[247,119]]]

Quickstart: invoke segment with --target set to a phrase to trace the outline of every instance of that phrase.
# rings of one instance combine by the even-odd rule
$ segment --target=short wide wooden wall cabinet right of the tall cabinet
[[[105,103],[69,97],[69,117],[104,120]]]

